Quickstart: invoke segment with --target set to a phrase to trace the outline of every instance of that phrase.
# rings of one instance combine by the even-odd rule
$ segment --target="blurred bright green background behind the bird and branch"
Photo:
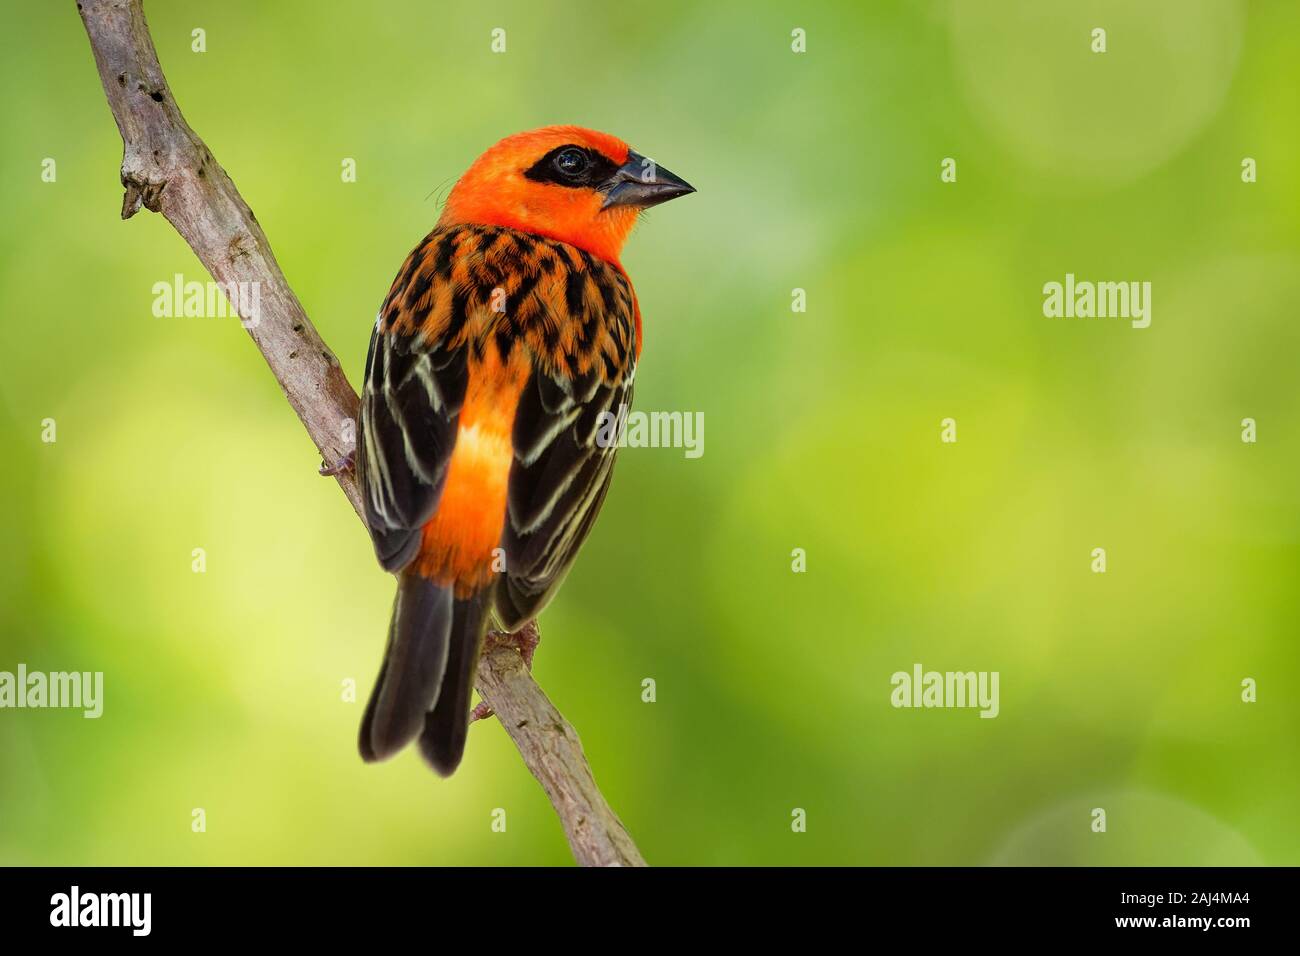
[[[705,455],[623,453],[536,667],[651,864],[1300,864],[1300,5],[147,13],[354,382],[502,135],[699,189],[624,263],[637,407]],[[152,316],[207,276],[118,220],[72,0],[5,5],[0,82],[0,670],[105,672],[99,721],[0,711],[0,862],[569,862],[495,721],[451,780],[361,763],[391,580],[239,325]],[[1150,328],[1044,317],[1066,272],[1150,281]],[[894,710],[916,662],[1001,715]]]

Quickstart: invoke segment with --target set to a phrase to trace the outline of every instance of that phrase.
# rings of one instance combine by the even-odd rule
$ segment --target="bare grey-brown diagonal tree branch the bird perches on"
[[[122,219],[142,206],[161,212],[213,280],[256,284],[260,310],[242,316],[244,328],[321,458],[338,462],[352,450],[356,392],[307,319],[252,209],[181,116],[142,0],[81,0],[77,9],[122,134]],[[355,473],[344,470],[335,480],[360,514]],[[500,636],[488,641],[477,688],[550,797],[575,858],[585,866],[644,866],[595,786],[577,734],[533,680],[514,643]]]

